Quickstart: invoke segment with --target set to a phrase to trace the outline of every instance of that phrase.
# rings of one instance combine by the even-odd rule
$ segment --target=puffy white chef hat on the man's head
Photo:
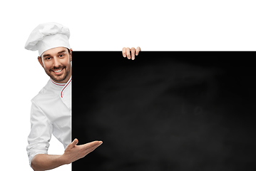
[[[68,42],[69,29],[57,23],[39,24],[29,35],[25,48],[39,51],[39,56],[44,51],[56,47],[71,48]]]

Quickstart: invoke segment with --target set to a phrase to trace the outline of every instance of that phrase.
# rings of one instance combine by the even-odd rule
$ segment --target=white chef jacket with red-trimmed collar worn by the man
[[[71,142],[71,81],[55,83],[50,79],[31,100],[31,132],[26,147],[29,165],[35,155],[48,154],[51,134],[64,148]]]

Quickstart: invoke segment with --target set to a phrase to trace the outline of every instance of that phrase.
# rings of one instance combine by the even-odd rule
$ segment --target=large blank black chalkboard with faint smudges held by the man
[[[72,170],[255,170],[255,52],[74,51]]]

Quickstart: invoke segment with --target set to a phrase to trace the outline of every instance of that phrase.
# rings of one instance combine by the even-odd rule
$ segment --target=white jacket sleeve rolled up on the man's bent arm
[[[35,155],[48,154],[49,141],[53,132],[53,125],[43,113],[43,110],[36,102],[33,100],[31,102],[31,132],[28,137],[29,145],[26,147],[30,166]]]

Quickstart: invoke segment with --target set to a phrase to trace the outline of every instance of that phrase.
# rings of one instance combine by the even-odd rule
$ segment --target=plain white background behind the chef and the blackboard
[[[24,45],[39,24],[68,26],[73,51],[255,51],[255,7],[249,0],[1,2],[1,168],[31,170],[30,100],[48,76]],[[62,154],[63,145],[52,138],[48,152]]]

